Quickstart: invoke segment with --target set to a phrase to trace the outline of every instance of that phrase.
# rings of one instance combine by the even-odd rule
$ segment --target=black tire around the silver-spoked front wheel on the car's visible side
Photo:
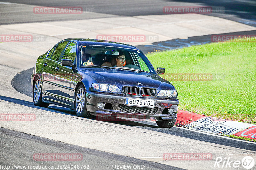
[[[80,93],[81,93],[80,89],[82,89],[84,91],[84,95],[83,95],[83,97],[84,97],[84,105],[81,105],[82,103],[77,102],[77,94],[80,96]],[[76,104],[76,103],[78,103],[78,104]],[[82,106],[82,110],[79,109],[79,103]],[[77,106],[78,106],[78,108],[77,108]],[[76,111],[76,116],[78,116],[78,117],[85,117],[85,118],[91,118],[92,117],[90,112],[88,112],[86,110],[86,91],[85,91],[85,88],[84,88],[84,86],[82,84],[76,90],[74,107],[75,107],[75,111]]]

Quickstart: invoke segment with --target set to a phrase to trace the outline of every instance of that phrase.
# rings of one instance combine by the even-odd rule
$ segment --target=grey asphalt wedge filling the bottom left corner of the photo
[[[26,133],[12,131],[1,127],[0,141],[0,165],[6,167],[1,169],[7,169],[7,166],[10,166],[10,168],[14,167],[12,169],[32,169],[28,166],[34,166],[33,169],[109,170],[115,169],[114,165],[129,165],[131,167],[144,167],[143,169],[145,170],[181,170],[181,168],[173,166],[135,159],[127,156],[116,155],[108,152],[97,151],[76,145],[70,145],[47,138],[41,138]],[[53,156],[44,157],[44,159],[42,159],[41,157],[39,157],[39,155],[42,155],[43,153],[51,153],[52,155],[54,155],[55,153],[67,153],[69,160],[65,159],[65,161],[52,161],[51,159],[54,158]],[[69,155],[72,154],[78,155],[77,158],[74,156],[69,157]],[[38,156],[36,157],[36,155]],[[45,160],[45,158],[48,160]],[[82,168],[78,168],[78,165]],[[43,168],[43,166],[45,166],[46,168]],[[47,168],[50,166],[55,168]],[[60,166],[62,166],[63,168],[60,168]],[[68,168],[68,166],[76,166],[77,168]]]

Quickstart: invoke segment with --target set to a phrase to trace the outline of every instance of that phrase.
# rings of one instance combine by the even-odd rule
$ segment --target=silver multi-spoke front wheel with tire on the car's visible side
[[[76,116],[85,118],[92,117],[92,115],[86,110],[86,95],[82,84],[76,90],[75,110]]]

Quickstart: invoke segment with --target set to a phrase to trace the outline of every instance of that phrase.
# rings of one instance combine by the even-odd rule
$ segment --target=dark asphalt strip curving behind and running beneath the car
[[[30,68],[28,70],[22,71],[21,73],[17,74],[13,80],[12,80],[12,87],[19,91],[22,94],[25,94],[27,96],[32,97],[32,89],[31,89],[31,84],[30,84],[30,75],[33,72],[33,68]],[[34,103],[27,102],[27,101],[21,101],[18,99],[14,98],[9,98],[9,97],[4,97],[0,96],[1,100],[5,101],[12,101],[17,104],[23,104],[29,107],[33,108],[40,108],[43,110],[48,110],[52,112],[57,112],[61,114],[71,114],[71,115],[76,115],[75,111],[70,110],[68,108],[56,106],[56,105],[50,105],[48,108],[42,108],[42,107],[37,107],[34,106]],[[205,141],[209,143],[214,143],[214,144],[220,144],[220,145],[226,145],[226,146],[231,146],[231,147],[236,147],[240,149],[246,149],[246,150],[251,150],[251,151],[256,151],[256,144],[248,143],[243,140],[234,140],[232,138],[223,138],[220,136],[213,136],[210,134],[205,134],[205,133],[199,133],[196,131],[190,131],[186,128],[178,128],[178,127],[172,127],[170,129],[167,128],[159,128],[155,122],[148,122],[148,121],[140,121],[140,122],[135,122],[135,121],[113,121],[111,122],[113,124],[122,124],[126,126],[133,126],[137,128],[143,128],[143,129],[148,129],[152,131],[158,131],[162,133],[167,133],[175,136],[180,136],[184,138],[191,138],[191,139],[196,139],[200,141]]]

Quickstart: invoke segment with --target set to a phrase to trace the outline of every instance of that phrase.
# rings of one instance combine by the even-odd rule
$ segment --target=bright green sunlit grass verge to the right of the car
[[[254,41],[254,42],[251,42]],[[256,124],[256,38],[150,53],[153,66],[179,94],[179,109]],[[174,81],[173,73],[209,74],[210,81]],[[171,80],[172,79],[172,80]]]

